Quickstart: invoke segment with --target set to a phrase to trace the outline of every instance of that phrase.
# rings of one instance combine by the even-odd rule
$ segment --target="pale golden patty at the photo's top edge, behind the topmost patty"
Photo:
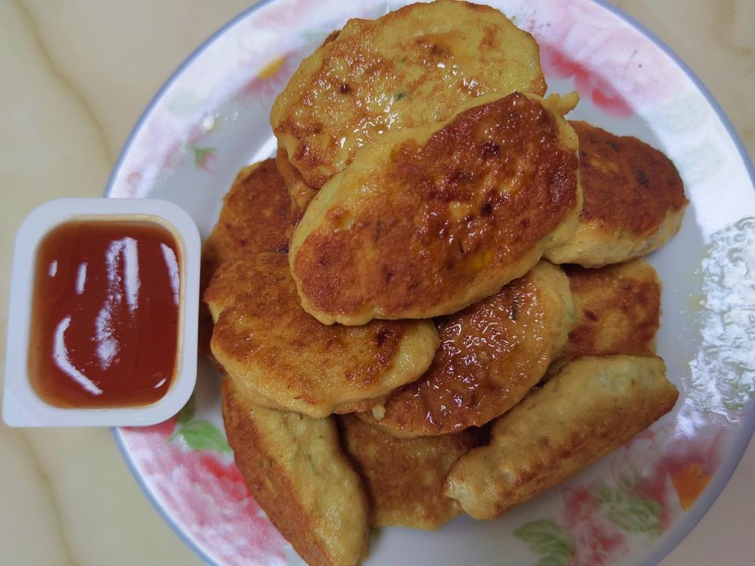
[[[483,94],[545,90],[532,35],[488,6],[439,0],[349,20],[301,63],[270,124],[318,189],[387,131],[439,122]]]

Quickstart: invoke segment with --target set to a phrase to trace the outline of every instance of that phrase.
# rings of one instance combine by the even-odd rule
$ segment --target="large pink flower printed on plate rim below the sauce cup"
[[[284,564],[288,543],[251,497],[236,465],[211,451],[187,451],[169,443],[175,424],[171,419],[121,430],[134,465],[159,504],[223,564]]]

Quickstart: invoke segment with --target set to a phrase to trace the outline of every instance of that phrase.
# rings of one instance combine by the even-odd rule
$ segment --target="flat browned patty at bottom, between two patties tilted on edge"
[[[364,481],[372,526],[436,529],[458,515],[443,482],[451,464],[477,446],[473,432],[396,438],[353,415],[339,417],[339,428]]]

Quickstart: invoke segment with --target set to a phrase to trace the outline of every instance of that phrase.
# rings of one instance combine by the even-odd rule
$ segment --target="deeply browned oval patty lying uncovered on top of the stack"
[[[564,104],[483,97],[361,149],[291,238],[304,309],[325,324],[428,318],[524,275],[569,237],[581,207]]]

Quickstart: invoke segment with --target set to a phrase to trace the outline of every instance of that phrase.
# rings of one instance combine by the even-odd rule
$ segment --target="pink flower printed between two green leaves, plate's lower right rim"
[[[564,510],[559,523],[572,534],[572,566],[612,564],[629,552],[624,534],[602,516],[600,501],[586,488],[563,490]]]

